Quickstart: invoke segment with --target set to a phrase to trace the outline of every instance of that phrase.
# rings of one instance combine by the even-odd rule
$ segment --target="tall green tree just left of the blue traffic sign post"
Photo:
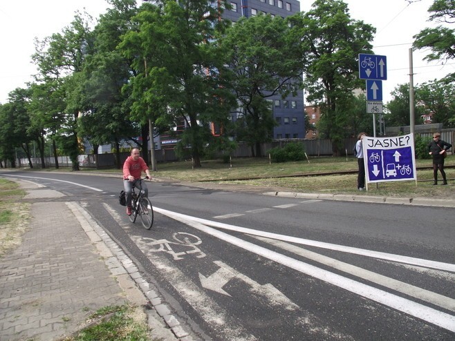
[[[364,87],[358,78],[358,54],[371,53],[375,28],[351,19],[340,0],[316,0],[311,10],[293,21],[298,26],[304,55],[304,86],[307,101],[322,106],[319,130],[331,139],[334,155],[342,150],[344,119],[352,92]],[[319,129],[318,126],[318,129]]]

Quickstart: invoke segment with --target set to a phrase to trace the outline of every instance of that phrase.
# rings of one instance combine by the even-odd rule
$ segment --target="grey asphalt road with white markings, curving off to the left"
[[[147,231],[118,204],[121,179],[14,175],[84,206],[194,338],[455,338],[453,208],[149,182]]]

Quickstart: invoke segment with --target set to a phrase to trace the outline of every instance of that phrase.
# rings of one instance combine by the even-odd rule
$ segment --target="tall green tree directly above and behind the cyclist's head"
[[[134,0],[109,0],[113,8],[102,14],[93,30],[93,53],[86,56],[82,72],[78,133],[89,139],[95,153],[101,144],[115,146],[117,165],[120,167],[120,142],[136,137],[141,127],[129,119],[129,93],[122,92],[131,75],[131,61],[117,49],[120,37],[131,29],[131,18],[137,14]],[[146,129],[147,131],[147,129]],[[147,162],[147,135],[142,143],[142,155]]]

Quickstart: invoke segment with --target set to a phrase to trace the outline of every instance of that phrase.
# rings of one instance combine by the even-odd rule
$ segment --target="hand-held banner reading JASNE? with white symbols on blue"
[[[416,179],[414,138],[366,137],[363,144],[366,182]]]

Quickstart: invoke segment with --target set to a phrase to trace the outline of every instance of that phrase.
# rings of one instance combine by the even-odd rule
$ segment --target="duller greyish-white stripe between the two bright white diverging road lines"
[[[373,271],[362,269],[358,266],[347,264],[345,262],[340,262],[339,260],[335,260],[331,257],[319,255],[319,253],[302,249],[301,247],[295,246],[293,244],[288,244],[285,242],[281,242],[279,240],[272,240],[270,238],[264,237],[255,238],[257,238],[258,240],[262,240],[263,242],[266,242],[268,244],[278,246],[286,251],[295,253],[296,255],[301,255],[302,257],[306,257],[310,260],[315,260],[316,262],[331,266],[345,273],[350,273],[351,275],[363,278],[364,280],[369,280],[370,282],[380,284],[382,286],[385,286],[386,288],[393,289],[400,293],[405,293],[406,295],[418,298],[419,300],[423,300],[431,304],[436,304],[437,306],[449,309],[451,311],[455,311],[455,300],[452,298],[448,298],[447,296],[439,295],[438,293],[421,289],[418,286],[407,284],[399,280],[394,280],[393,278],[380,275],[379,273],[374,273]]]

